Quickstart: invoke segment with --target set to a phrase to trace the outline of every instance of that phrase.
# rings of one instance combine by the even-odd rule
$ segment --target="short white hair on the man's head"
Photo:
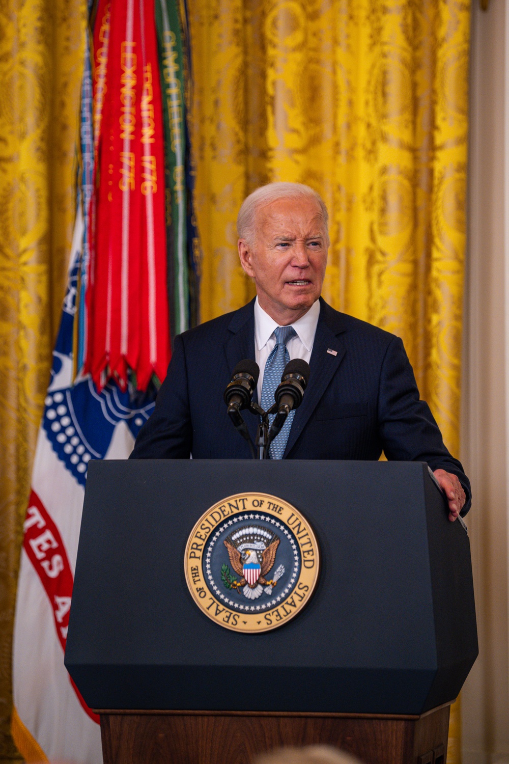
[[[256,239],[256,213],[260,207],[265,207],[276,199],[311,199],[316,202],[320,209],[321,218],[324,221],[324,228],[327,235],[327,244],[329,243],[329,234],[327,232],[327,222],[329,213],[324,200],[320,194],[304,183],[268,183],[266,186],[260,186],[250,193],[243,200],[237,215],[237,234],[239,238],[245,239],[248,244],[253,245]]]

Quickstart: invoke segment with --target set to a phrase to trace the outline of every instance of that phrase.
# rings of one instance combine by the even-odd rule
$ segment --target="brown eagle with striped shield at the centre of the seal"
[[[232,578],[229,570],[221,571],[225,586],[242,591],[248,600],[258,599],[264,591],[266,594],[272,594],[272,588],[285,572],[284,566],[279,565],[273,578],[266,578],[275,563],[279,536],[265,526],[243,526],[230,533],[224,539],[224,545],[230,565],[239,576],[237,581],[236,578]]]

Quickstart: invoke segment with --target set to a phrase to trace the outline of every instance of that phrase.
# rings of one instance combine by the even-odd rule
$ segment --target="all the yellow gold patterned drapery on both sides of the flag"
[[[401,335],[457,453],[469,3],[188,0],[188,12],[201,320],[253,295],[236,254],[246,194],[271,180],[314,186],[330,210],[325,298]],[[85,0],[0,5],[5,759],[16,756],[8,738],[15,575],[72,232],[85,15]],[[457,714],[449,764],[459,761],[454,724]]]

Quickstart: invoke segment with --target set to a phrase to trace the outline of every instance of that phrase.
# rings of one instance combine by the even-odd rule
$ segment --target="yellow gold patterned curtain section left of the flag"
[[[0,759],[21,524],[69,257],[85,0],[0,4]]]

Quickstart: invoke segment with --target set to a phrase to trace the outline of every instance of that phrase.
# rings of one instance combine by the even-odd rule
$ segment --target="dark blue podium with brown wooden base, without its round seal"
[[[193,601],[185,545],[214,503],[256,491],[307,518],[321,571],[288,623],[238,633]],[[427,465],[89,467],[65,663],[100,714],[105,764],[248,764],[315,743],[366,764],[445,764],[477,652],[469,539]]]

